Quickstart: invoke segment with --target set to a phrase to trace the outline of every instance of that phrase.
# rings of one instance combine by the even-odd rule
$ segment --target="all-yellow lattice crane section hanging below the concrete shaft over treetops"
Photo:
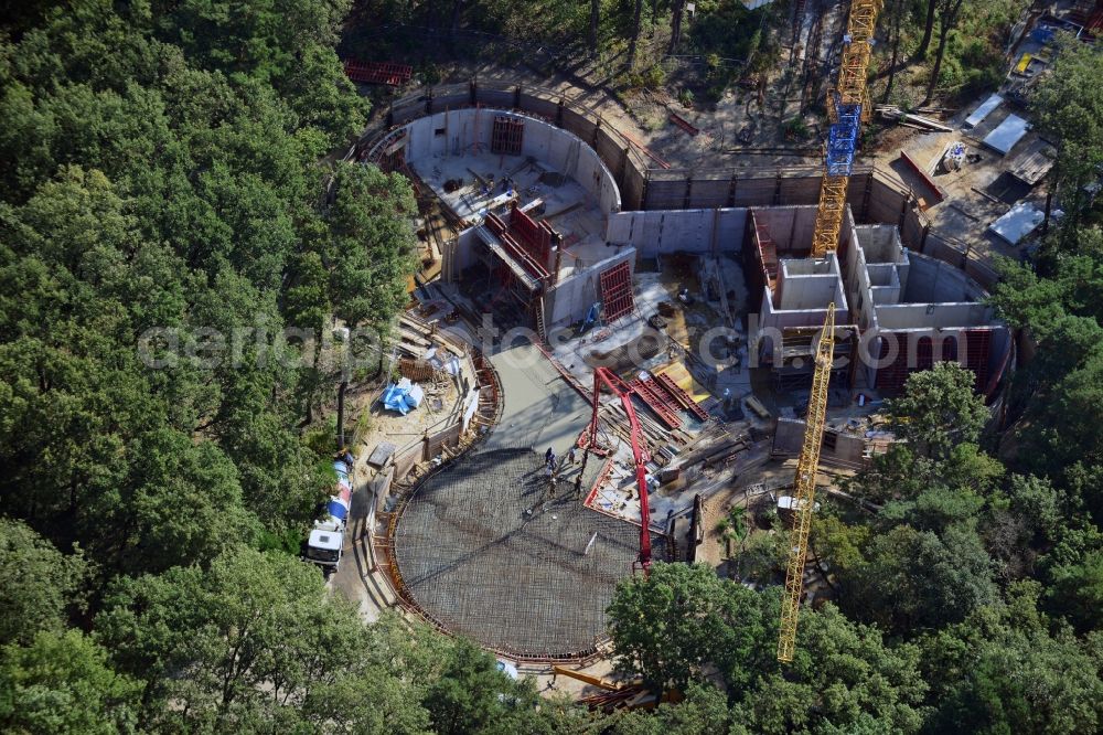
[[[831,365],[835,359],[835,302],[827,305],[827,318],[820,332],[816,347],[816,372],[812,379],[812,394],[808,396],[807,425],[801,457],[796,460],[796,498],[793,503],[792,551],[785,573],[785,596],[781,600],[781,636],[778,638],[778,660],[793,660],[796,648],[796,617],[801,611],[801,595],[804,592],[804,561],[808,554],[808,529],[812,526],[812,511],[815,505],[816,471],[820,466],[820,445],[824,437],[824,422],[827,417],[827,383]]]

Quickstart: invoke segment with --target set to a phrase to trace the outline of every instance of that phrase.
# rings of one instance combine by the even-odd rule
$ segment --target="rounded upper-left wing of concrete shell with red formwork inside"
[[[462,284],[476,308],[540,334],[595,303],[608,320],[631,308],[635,252],[606,238],[620,193],[575,136],[475,107],[414,120],[372,158],[439,198],[459,233],[445,244],[441,278]]]

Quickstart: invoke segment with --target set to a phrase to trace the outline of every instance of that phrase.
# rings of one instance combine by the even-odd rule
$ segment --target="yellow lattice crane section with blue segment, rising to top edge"
[[[820,185],[820,207],[812,235],[812,255],[823,257],[838,247],[838,233],[846,206],[846,189],[854,170],[854,155],[858,146],[861,122],[869,117],[866,104],[866,72],[877,26],[881,0],[853,0],[850,17],[843,36],[843,60],[838,70],[838,84],[827,99],[831,128],[827,131],[827,152],[824,157],[824,177]]]

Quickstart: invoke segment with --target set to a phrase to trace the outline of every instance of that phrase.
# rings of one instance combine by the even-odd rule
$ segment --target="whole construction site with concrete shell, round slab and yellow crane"
[[[910,173],[856,160],[877,11],[850,7],[815,167],[674,169],[522,85],[390,103],[349,158],[418,196],[408,355],[448,343],[471,368],[447,436],[366,470],[377,601],[544,671],[608,652],[619,579],[702,561],[785,585],[792,657],[800,606],[829,595],[814,493],[845,499],[836,480],[891,443],[884,400],[956,361],[995,413],[1016,362],[995,273],[939,234]],[[713,528],[737,505],[791,526],[788,569],[729,563]]]

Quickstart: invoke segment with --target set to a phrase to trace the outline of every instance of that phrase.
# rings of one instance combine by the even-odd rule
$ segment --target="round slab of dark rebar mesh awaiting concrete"
[[[599,465],[591,458],[587,475]],[[500,651],[552,658],[591,649],[617,580],[632,573],[640,530],[583,508],[574,475],[555,500],[547,489],[543,457],[531,449],[470,455],[427,479],[395,535],[417,604]],[[661,557],[660,541],[655,534]]]

